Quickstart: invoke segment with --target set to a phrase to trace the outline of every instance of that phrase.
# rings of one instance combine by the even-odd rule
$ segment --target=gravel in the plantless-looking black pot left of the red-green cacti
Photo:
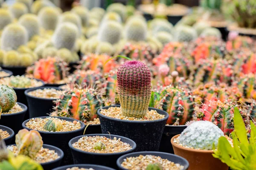
[[[62,91],[56,90],[55,88],[44,88],[30,91],[30,96],[40,97],[45,99],[58,99],[60,98]]]

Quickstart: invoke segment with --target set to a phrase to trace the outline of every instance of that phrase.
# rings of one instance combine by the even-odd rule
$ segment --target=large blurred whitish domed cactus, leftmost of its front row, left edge
[[[9,24],[3,29],[0,46],[5,51],[16,50],[28,42],[26,28],[18,24]]]

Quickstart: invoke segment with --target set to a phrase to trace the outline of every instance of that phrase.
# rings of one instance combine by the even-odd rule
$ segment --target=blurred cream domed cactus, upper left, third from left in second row
[[[40,26],[46,30],[55,30],[59,15],[59,11],[54,7],[42,8],[38,14]]]

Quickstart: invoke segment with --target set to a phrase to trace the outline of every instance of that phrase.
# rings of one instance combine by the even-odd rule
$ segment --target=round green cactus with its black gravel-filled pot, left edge
[[[0,125],[10,127],[16,134],[20,130],[27,107],[17,102],[15,91],[7,85],[0,85],[0,94]]]

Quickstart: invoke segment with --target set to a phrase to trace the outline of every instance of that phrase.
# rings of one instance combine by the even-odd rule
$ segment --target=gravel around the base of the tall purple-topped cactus
[[[164,118],[164,115],[157,113],[157,111],[155,110],[148,111],[146,116],[144,116],[141,119],[138,119],[135,117],[125,117],[125,116],[122,116],[120,107],[110,107],[108,109],[101,109],[100,113],[108,117],[122,119],[122,120],[132,120],[132,121],[158,120],[158,119]]]

